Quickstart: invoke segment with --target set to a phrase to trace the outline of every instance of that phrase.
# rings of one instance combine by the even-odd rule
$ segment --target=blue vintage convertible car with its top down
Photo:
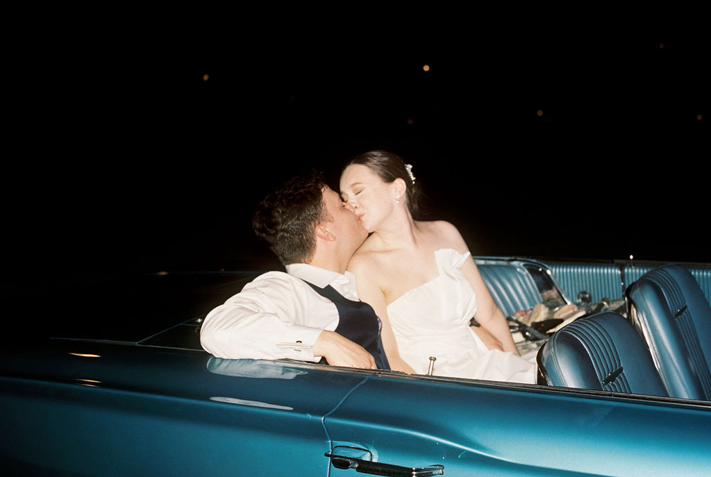
[[[0,359],[1,468],[711,475],[710,266],[477,262],[520,346],[538,349],[537,385],[214,358],[201,349],[201,321],[250,279],[241,272],[18,292]],[[555,315],[571,305],[582,313]]]

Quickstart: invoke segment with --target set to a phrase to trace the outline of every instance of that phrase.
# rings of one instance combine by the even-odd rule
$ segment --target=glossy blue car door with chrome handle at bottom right
[[[711,474],[708,403],[383,374],[325,424],[331,476]]]

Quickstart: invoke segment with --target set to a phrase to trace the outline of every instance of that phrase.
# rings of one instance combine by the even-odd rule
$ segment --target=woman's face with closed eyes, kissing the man
[[[395,205],[392,183],[385,183],[368,166],[351,164],[341,174],[341,198],[360,220],[374,232]]]

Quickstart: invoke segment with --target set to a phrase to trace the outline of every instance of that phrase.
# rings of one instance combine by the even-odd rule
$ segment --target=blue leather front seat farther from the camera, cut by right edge
[[[711,307],[693,275],[658,267],[629,286],[627,299],[669,395],[711,400]]]

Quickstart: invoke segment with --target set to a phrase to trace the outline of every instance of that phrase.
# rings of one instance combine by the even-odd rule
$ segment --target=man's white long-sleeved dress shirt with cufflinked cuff
[[[321,331],[336,329],[338,310],[304,280],[320,288],[331,285],[347,299],[358,300],[351,272],[287,265],[287,273],[262,274],[210,311],[201,328],[201,345],[218,358],[319,361],[311,346]]]

